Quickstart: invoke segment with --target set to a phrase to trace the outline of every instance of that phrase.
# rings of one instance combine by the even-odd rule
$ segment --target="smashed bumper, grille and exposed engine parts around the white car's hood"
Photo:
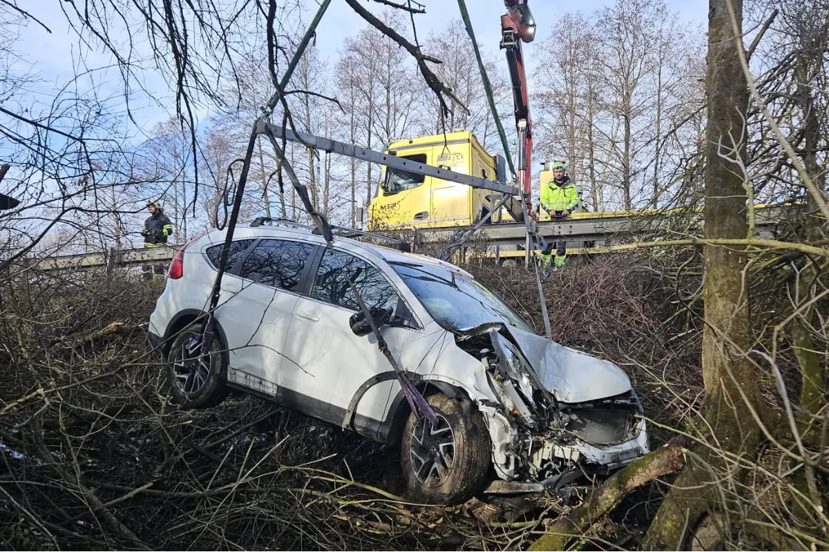
[[[486,367],[499,399],[478,409],[500,478],[555,488],[647,453],[642,406],[633,389],[593,401],[560,401],[503,324],[456,332],[455,340]]]

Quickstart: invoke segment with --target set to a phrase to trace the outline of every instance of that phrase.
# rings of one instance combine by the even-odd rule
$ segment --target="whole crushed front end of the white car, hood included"
[[[502,323],[453,334],[497,397],[478,401],[502,479],[492,492],[556,488],[647,454],[641,403],[613,363]]]

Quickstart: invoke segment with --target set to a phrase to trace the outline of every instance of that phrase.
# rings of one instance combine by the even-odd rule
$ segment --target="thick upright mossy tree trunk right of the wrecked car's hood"
[[[734,54],[734,47],[742,48],[743,43],[734,36],[726,2],[732,2],[742,28],[742,0],[710,0],[705,238],[739,239],[745,238],[749,230],[745,176],[736,165],[739,157],[745,157],[744,121],[749,93],[745,74]],[[731,137],[739,140],[736,151]],[[739,391],[752,405],[756,404],[759,392],[750,362],[738,358],[749,345],[749,305],[742,274],[746,256],[739,248],[717,246],[705,246],[703,255],[706,325],[702,375],[710,410],[715,414],[713,430],[720,437],[720,444],[734,452],[744,446],[736,439],[736,430],[749,425],[746,422],[750,420]],[[734,407],[729,406],[732,401]]]

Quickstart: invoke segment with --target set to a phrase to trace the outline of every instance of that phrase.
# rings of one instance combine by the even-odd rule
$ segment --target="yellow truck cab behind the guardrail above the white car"
[[[503,156],[492,156],[465,130],[398,140],[386,153],[487,180],[506,180]],[[441,228],[472,225],[500,194],[472,186],[383,167],[381,185],[369,205],[369,229]],[[512,220],[502,209],[503,220]]]

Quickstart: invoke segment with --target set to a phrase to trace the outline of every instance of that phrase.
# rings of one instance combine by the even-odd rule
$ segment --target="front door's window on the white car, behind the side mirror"
[[[360,310],[349,279],[368,308],[397,309],[400,297],[381,271],[342,251],[328,250],[322,256],[311,296],[332,305]]]

